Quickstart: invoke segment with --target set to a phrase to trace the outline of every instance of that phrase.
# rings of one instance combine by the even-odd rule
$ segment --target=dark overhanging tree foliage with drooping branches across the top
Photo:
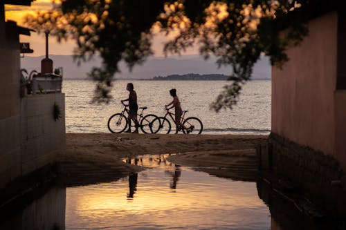
[[[206,59],[215,55],[219,66],[231,66],[231,77],[237,79],[212,103],[219,111],[237,103],[261,55],[268,55],[272,65],[284,64],[286,48],[307,35],[304,22],[316,2],[320,1],[64,0],[50,12],[28,16],[26,22],[39,32],[49,30],[57,39],[75,39],[78,63],[93,55],[102,57],[102,66],[90,73],[98,81],[94,97],[98,102],[109,102],[120,60],[131,69],[153,54],[155,33],[170,37],[165,54],[199,46]],[[280,34],[283,29],[286,32]]]

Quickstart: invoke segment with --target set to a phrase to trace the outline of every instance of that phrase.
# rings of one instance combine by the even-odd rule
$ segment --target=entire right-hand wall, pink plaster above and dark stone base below
[[[319,207],[345,216],[346,20],[329,12],[308,26],[309,36],[287,51],[290,61],[272,69],[268,168]]]

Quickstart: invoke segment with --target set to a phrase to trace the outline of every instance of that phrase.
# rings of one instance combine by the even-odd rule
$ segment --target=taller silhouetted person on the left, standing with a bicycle
[[[137,111],[138,111],[138,104],[137,104],[137,94],[136,91],[134,90],[134,84],[128,83],[126,86],[126,89],[129,91],[129,98],[122,100],[121,102],[129,102],[129,129],[125,131],[125,133],[131,133],[131,119],[134,121],[136,130],[134,133],[138,133],[138,127],[139,123],[137,121]]]

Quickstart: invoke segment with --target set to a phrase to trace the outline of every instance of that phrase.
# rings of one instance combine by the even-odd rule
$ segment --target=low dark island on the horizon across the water
[[[186,75],[168,75],[166,77],[155,76],[152,79],[156,81],[226,81],[228,79],[236,80],[237,77],[232,78],[221,74],[199,75],[197,73],[188,73]]]

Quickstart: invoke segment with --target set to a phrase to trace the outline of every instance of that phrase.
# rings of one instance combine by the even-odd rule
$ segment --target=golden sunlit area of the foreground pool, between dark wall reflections
[[[270,226],[268,208],[258,198],[253,182],[216,178],[159,157],[138,162],[158,168],[138,173],[137,180],[132,178],[136,182],[127,177],[118,182],[67,189],[66,229]]]

